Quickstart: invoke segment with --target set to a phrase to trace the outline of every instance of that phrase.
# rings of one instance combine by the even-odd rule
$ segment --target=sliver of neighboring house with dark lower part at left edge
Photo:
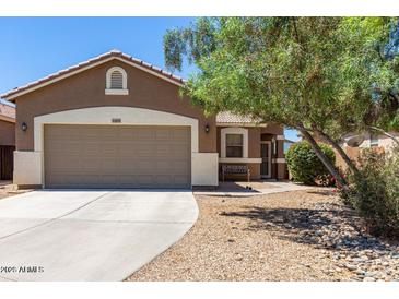
[[[0,180],[12,179],[15,150],[15,108],[0,101]]]

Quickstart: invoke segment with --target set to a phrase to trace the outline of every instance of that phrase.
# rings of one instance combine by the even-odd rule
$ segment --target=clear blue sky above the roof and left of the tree
[[[0,93],[119,49],[165,68],[162,40],[192,17],[0,17]],[[195,70],[184,65],[178,75]],[[286,132],[296,140],[296,132]]]

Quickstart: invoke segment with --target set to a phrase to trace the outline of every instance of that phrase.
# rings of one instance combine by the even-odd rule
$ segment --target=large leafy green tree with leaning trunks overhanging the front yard
[[[207,113],[230,110],[298,130],[345,189],[315,137],[327,141],[357,171],[338,141],[342,132],[386,125],[392,118],[397,60],[380,51],[395,21],[200,17],[166,33],[165,59],[169,69],[179,70],[184,57],[197,64],[199,72],[184,93]]]

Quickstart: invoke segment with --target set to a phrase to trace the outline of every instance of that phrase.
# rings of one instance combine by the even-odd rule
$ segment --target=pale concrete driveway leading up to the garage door
[[[191,191],[35,191],[2,199],[0,280],[122,280],[197,217]]]

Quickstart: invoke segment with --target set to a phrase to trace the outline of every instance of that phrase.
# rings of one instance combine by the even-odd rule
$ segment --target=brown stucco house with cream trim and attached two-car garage
[[[16,104],[14,183],[45,188],[218,186],[222,164],[282,179],[283,127],[204,117],[184,80],[110,51],[1,97]]]

